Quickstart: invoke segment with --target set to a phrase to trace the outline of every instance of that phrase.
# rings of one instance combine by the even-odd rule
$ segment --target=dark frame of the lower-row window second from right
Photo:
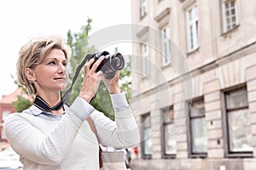
[[[191,117],[191,110],[193,103],[202,102],[204,105],[204,115],[203,116],[192,116]],[[190,158],[207,158],[207,152],[193,152],[193,136],[192,136],[192,119],[199,119],[201,117],[204,117],[206,119],[206,111],[205,111],[205,101],[203,96],[192,99],[188,102],[188,108],[189,108],[189,118],[187,119],[188,122],[188,149],[189,149],[189,157]],[[207,127],[206,127],[207,128]]]

